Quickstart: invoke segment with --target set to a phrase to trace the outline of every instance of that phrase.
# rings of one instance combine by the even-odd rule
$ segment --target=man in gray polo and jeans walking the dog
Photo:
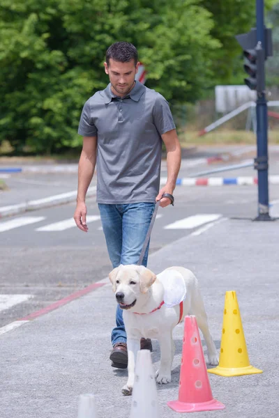
[[[85,197],[97,164],[97,202],[113,268],[136,264],[158,201],[172,194],[181,163],[181,148],[165,98],[135,81],[140,63],[129,42],[107,49],[105,72],[110,84],[84,104],[78,133],[83,147],[78,169],[75,222],[87,232]],[[162,139],[167,150],[167,183],[160,189]],[[163,198],[165,208],[170,199]],[[146,266],[149,246],[142,264]],[[123,311],[117,306],[112,330],[112,366],[128,364]],[[150,340],[141,348],[152,350]]]

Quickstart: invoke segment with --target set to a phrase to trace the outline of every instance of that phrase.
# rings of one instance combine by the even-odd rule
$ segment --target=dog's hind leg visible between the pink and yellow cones
[[[214,366],[216,366],[216,364],[218,364],[218,353],[214,341],[212,339],[211,333],[209,331],[209,323],[207,322],[204,302],[202,300],[202,295],[199,293],[198,288],[195,290],[195,297],[193,297],[192,300],[191,310],[192,314],[195,315],[197,319],[197,326],[202,331],[202,334],[204,336],[208,350],[209,364],[213,364]]]

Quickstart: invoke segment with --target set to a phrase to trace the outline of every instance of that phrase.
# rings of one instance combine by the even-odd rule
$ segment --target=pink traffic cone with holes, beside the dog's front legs
[[[184,320],[183,352],[179,381],[179,400],[167,403],[176,412],[223,410],[225,405],[213,398],[206,371],[204,352],[195,316]]]

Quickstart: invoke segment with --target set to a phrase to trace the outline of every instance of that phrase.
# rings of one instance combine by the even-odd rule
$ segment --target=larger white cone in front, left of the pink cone
[[[130,418],[160,418],[156,380],[149,350],[137,353]]]

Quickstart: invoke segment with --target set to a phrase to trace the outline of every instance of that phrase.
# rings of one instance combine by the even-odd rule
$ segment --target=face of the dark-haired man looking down
[[[113,59],[110,59],[110,65],[105,63],[105,72],[110,77],[112,92],[115,95],[123,97],[132,90],[139,65],[140,63],[135,65],[133,59],[128,63],[120,63]]]

